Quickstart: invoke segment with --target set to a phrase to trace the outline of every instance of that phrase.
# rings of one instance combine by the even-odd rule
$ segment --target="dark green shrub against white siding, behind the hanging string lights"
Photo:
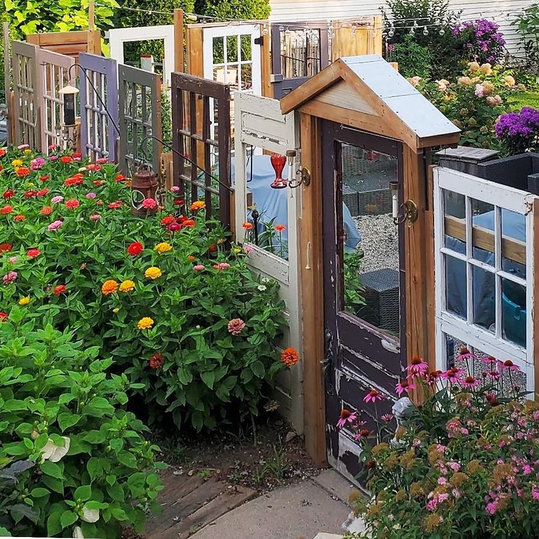
[[[452,32],[461,12],[450,10],[447,0],[388,0],[386,5],[381,11],[389,44],[410,45],[414,42],[425,47],[431,56],[430,78],[452,77],[462,71],[464,40]],[[407,38],[416,23],[413,36]],[[425,28],[426,35],[423,33]],[[393,33],[390,36],[391,30]],[[406,46],[403,50],[406,50]]]

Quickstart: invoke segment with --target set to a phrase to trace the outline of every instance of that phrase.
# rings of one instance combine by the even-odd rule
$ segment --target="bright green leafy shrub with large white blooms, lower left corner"
[[[29,310],[13,307],[0,325],[1,454],[36,463],[13,487],[18,533],[112,538],[121,524],[140,531],[145,510],[159,508],[161,485],[158,448],[123,410],[134,385],[108,372],[112,360],[99,360],[99,347],[71,331],[38,329]]]

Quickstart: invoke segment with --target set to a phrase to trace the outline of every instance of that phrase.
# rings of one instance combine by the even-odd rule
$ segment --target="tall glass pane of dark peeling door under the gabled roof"
[[[343,309],[388,335],[399,335],[398,226],[389,182],[394,157],[342,144],[339,251],[343,253]]]

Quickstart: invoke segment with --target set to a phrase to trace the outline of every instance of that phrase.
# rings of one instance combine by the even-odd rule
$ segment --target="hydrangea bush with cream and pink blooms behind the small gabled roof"
[[[496,119],[512,109],[512,100],[525,89],[516,84],[512,73],[500,66],[472,62],[452,81],[410,80],[462,130],[461,144],[492,148],[499,146],[494,133]]]

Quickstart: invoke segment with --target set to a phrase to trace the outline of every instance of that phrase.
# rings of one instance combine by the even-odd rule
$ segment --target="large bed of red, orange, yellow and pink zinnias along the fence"
[[[134,217],[113,164],[0,154],[3,316],[19,305],[99,347],[137,384],[150,420],[170,414],[202,429],[257,413],[286,367],[273,345],[278,285],[253,279],[204,202],[185,208],[168,192],[155,215]]]

